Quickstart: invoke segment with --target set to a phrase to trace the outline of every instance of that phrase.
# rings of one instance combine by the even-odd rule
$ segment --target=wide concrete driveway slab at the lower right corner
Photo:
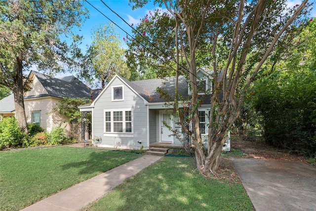
[[[316,167],[230,158],[256,211],[316,211]]]

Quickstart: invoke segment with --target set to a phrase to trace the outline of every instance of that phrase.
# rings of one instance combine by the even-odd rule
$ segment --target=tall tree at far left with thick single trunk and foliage
[[[72,30],[86,14],[77,0],[0,0],[0,84],[13,91],[22,131],[27,132],[23,73],[31,67],[53,73],[72,65],[80,40]]]

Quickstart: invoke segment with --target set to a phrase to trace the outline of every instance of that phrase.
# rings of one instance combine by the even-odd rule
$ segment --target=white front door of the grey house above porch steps
[[[160,111],[160,142],[171,142],[173,143],[173,136],[171,135],[172,132],[169,130],[168,127],[165,126],[167,124],[171,128],[173,128],[173,122],[171,121],[170,117],[166,114],[165,111]],[[172,118],[172,116],[171,116]],[[165,124],[164,124],[165,123]],[[171,136],[170,136],[171,135]]]

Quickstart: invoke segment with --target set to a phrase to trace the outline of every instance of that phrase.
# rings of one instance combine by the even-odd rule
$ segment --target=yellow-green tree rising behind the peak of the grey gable
[[[113,24],[100,25],[93,30],[92,43],[83,59],[81,77],[89,82],[101,82],[102,89],[115,74],[130,77],[119,37]]]

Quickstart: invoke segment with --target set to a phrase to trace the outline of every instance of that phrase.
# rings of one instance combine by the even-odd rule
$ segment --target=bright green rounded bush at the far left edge
[[[24,133],[14,117],[0,120],[0,149],[20,145],[23,137]]]

